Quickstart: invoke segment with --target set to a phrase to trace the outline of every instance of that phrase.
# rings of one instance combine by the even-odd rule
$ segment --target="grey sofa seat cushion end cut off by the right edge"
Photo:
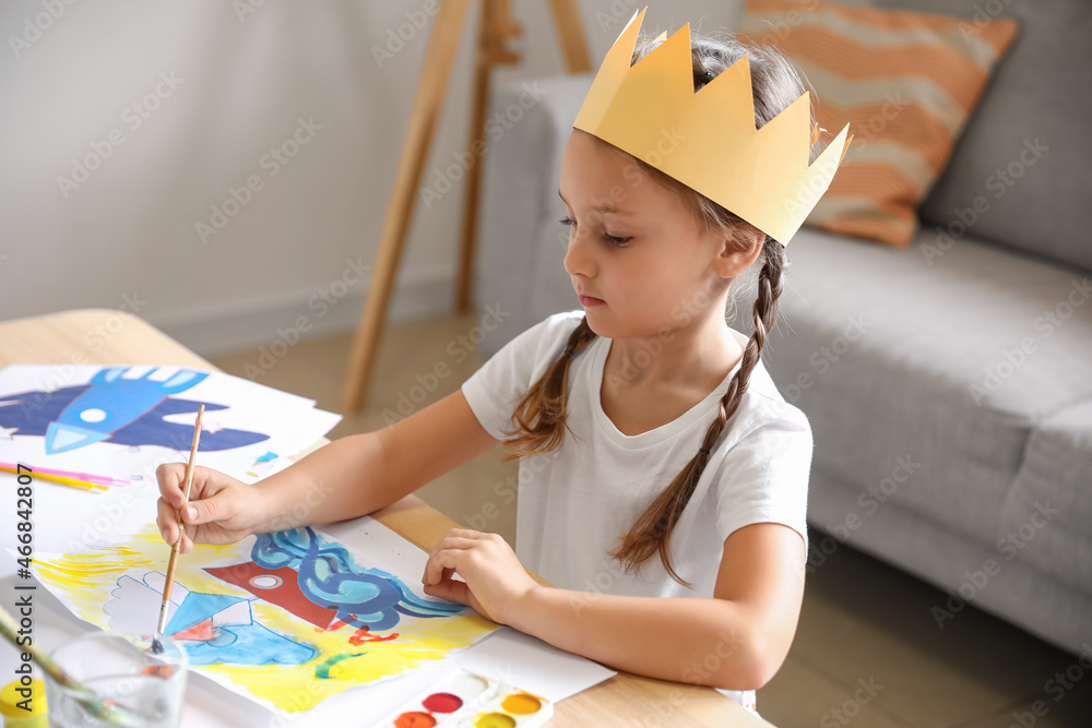
[[[1034,430],[1005,499],[998,549],[1092,592],[1092,402]]]

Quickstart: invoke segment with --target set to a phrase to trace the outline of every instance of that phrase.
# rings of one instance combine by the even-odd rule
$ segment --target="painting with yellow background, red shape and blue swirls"
[[[81,619],[151,634],[167,551],[150,526],[86,553],[36,554],[35,575]],[[165,633],[186,646],[194,670],[298,712],[442,659],[497,629],[367,562],[311,528],[200,546],[178,559]]]

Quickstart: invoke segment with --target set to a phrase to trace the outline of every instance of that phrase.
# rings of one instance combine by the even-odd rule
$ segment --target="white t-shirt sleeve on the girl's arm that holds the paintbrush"
[[[463,382],[463,396],[486,432],[497,440],[509,439],[520,397],[565,348],[583,318],[583,311],[549,317],[506,344]]]

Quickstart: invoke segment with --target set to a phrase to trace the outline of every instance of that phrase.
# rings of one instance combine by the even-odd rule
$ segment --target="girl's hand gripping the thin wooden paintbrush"
[[[186,464],[165,463],[155,469],[159,482],[156,525],[163,540],[178,538],[178,509],[182,504]],[[219,470],[193,467],[190,502],[182,513],[186,533],[179,547],[188,553],[194,544],[234,544],[254,533],[265,520],[261,493]]]

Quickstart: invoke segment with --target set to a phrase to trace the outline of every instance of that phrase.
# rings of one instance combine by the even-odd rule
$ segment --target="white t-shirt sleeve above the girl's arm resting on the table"
[[[786,403],[779,414],[748,431],[724,455],[719,469],[716,529],[722,540],[755,523],[781,523],[808,547],[808,477],[811,426]]]

